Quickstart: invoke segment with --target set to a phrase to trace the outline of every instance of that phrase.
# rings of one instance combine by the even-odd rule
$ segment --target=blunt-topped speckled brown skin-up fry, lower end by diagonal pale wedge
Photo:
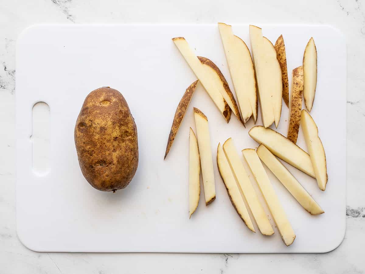
[[[303,66],[293,69],[292,95],[289,106],[288,139],[296,144],[300,126],[301,102],[303,101]]]

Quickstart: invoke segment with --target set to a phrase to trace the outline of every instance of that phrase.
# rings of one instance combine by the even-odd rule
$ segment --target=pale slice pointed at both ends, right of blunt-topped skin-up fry
[[[304,90],[306,108],[311,112],[317,86],[317,49],[313,37],[308,41],[303,55]]]

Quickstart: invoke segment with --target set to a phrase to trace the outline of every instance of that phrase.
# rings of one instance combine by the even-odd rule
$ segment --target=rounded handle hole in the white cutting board
[[[51,113],[45,102],[37,102],[32,108],[32,170],[38,176],[50,171]]]

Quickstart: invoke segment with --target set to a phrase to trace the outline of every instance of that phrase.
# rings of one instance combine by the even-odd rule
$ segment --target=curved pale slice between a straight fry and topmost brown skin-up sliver
[[[264,39],[264,51],[266,54],[266,81],[270,83],[271,101],[274,110],[275,126],[279,125],[281,116],[281,107],[283,105],[283,80],[281,76],[281,68],[276,57],[274,45],[266,37]]]

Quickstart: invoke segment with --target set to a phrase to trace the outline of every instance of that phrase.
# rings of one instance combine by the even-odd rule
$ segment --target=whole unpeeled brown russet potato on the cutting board
[[[116,191],[129,184],[138,166],[137,126],[119,91],[102,87],[90,92],[74,137],[82,174],[93,187]]]

